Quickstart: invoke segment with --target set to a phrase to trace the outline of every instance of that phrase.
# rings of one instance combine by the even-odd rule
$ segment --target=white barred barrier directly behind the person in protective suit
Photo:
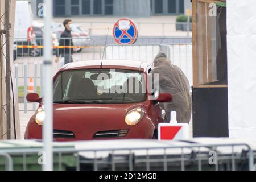
[[[172,64],[181,68],[193,84],[192,44],[133,44],[106,46],[105,59],[140,60],[152,63],[159,51],[166,53]]]

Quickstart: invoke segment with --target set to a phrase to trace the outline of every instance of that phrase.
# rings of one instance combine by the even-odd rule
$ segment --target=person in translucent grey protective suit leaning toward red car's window
[[[154,59],[152,74],[152,88],[156,80],[154,74],[159,76],[159,93],[171,93],[172,101],[160,103],[161,109],[166,112],[165,121],[170,121],[171,111],[176,111],[177,122],[189,123],[191,118],[192,100],[189,93],[188,78],[183,71],[167,59],[163,52],[159,52]]]

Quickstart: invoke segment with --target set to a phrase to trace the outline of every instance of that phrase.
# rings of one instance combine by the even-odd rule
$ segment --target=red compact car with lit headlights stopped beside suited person
[[[157,138],[161,117],[159,102],[171,94],[148,92],[153,66],[130,60],[80,61],[64,65],[53,77],[53,137],[56,141]],[[43,100],[28,122],[25,139],[42,139]]]

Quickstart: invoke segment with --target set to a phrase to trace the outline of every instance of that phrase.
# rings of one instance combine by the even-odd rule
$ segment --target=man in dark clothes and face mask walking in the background
[[[73,46],[72,41],[72,35],[71,35],[71,19],[65,19],[63,22],[63,26],[65,27],[65,30],[60,35],[60,46]],[[73,48],[60,48],[59,51],[57,51],[57,57],[55,59],[55,62],[57,63],[60,59],[60,57],[64,57],[64,63],[70,63],[73,62]]]

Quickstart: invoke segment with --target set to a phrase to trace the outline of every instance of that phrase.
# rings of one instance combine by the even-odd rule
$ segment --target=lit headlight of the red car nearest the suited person
[[[125,122],[127,125],[134,126],[136,125],[139,121],[144,116],[144,111],[141,108],[136,108],[130,110],[126,115],[125,115]]]

